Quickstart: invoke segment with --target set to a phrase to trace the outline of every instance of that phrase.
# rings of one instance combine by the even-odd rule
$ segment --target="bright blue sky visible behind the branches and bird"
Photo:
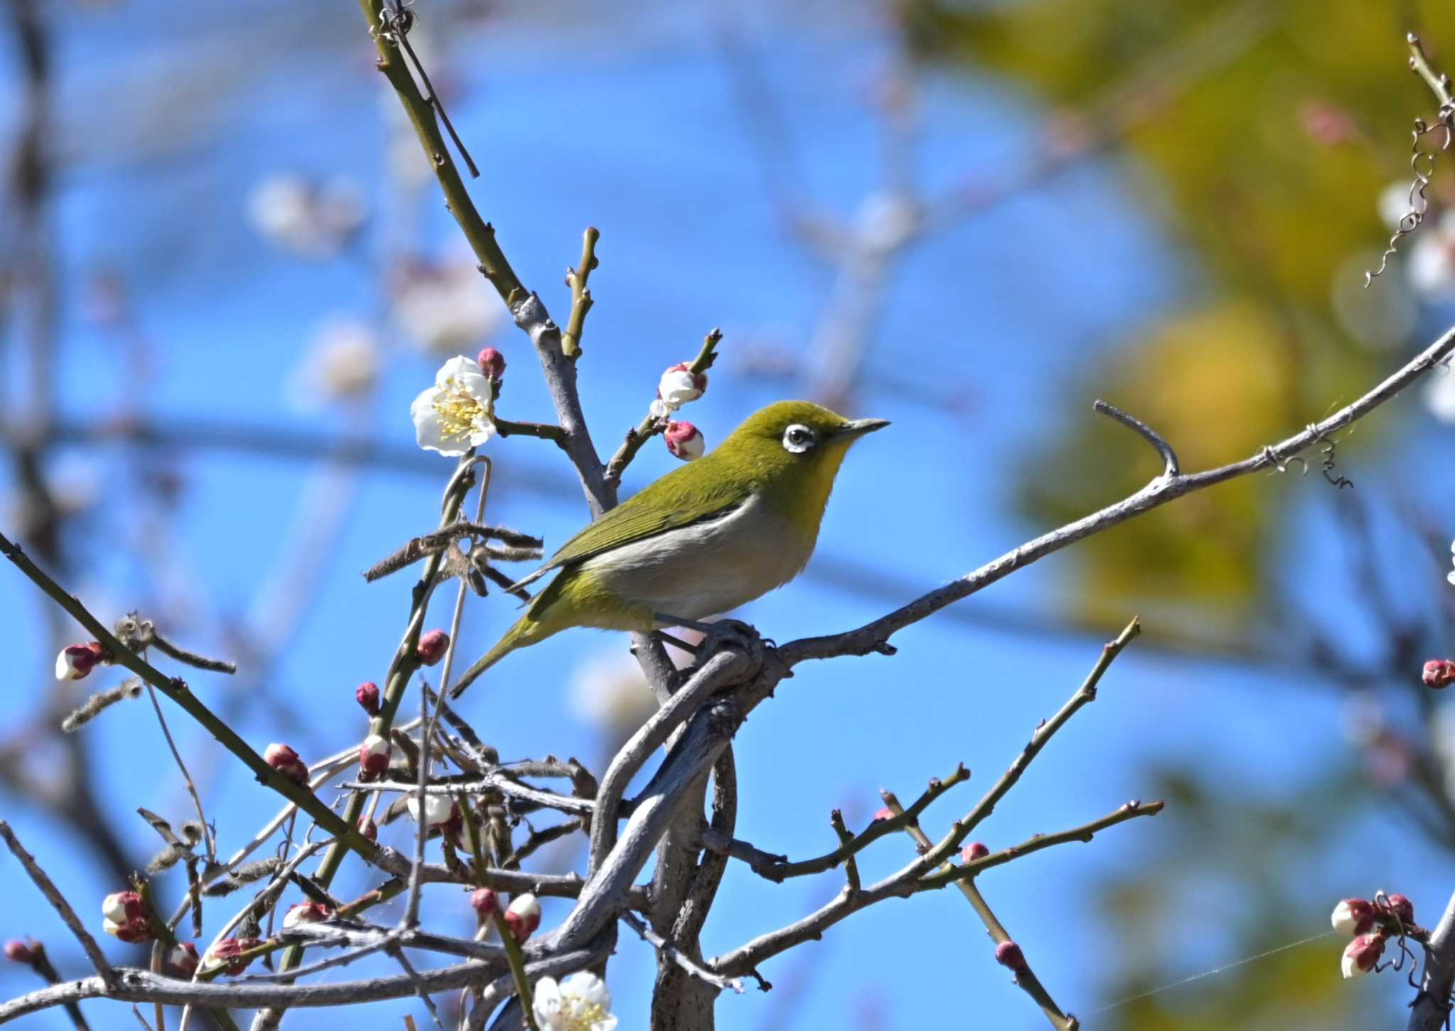
[[[279,170],[348,173],[365,183],[375,211],[388,202],[377,84],[361,55],[356,13],[352,4],[340,7],[345,16],[335,17],[265,4],[231,39],[236,22],[247,16],[221,9],[125,4],[60,19],[58,140],[73,162],[55,210],[67,312],[61,377],[86,384],[63,390],[68,418],[86,421],[116,403],[108,387],[118,374],[113,342],[74,315],[86,271],[109,264],[125,271],[154,349],[146,408],[159,421],[220,421],[329,438],[349,431],[336,415],[291,409],[285,383],[320,320],[377,310],[378,234],[361,259],[316,265],[278,253],[246,221],[247,192]],[[576,259],[582,227],[602,232],[601,266],[591,280],[597,306],[581,364],[598,447],[613,447],[642,416],[659,371],[690,358],[703,332],[720,325],[723,361],[707,396],[688,412],[713,444],[751,411],[793,392],[792,382],[733,374],[735,347],[765,336],[808,339],[829,278],[787,245],[774,220],[711,16],[698,7],[634,13],[642,23],[623,17],[608,25],[602,15],[566,17],[549,9],[538,22],[515,16],[461,32],[448,51],[458,79],[451,115],[483,169],[473,185],[483,213],[498,226],[518,274],[543,291],[557,317],[567,309],[559,277]],[[137,19],[148,15],[163,16],[148,22],[159,28],[132,33]],[[288,32],[290,19],[303,26],[297,35]],[[879,127],[864,96],[886,52],[873,25],[857,16],[837,25],[808,15],[780,22],[762,10],[749,20],[764,74],[783,98],[809,194],[818,207],[850,218],[879,188]],[[546,32],[556,33],[550,50],[570,60],[541,60],[537,50],[522,48]],[[262,68],[247,74],[237,50],[256,38],[279,42],[266,51]],[[0,70],[12,79],[10,68]],[[125,89],[103,89],[118,82]],[[196,98],[186,99],[194,90]],[[166,114],[169,98],[180,127],[175,135],[159,133],[153,121]],[[1035,115],[1033,102],[1004,84],[931,77],[922,99],[920,182],[934,191],[978,170],[997,173],[1027,146]],[[1081,374],[1116,338],[1176,304],[1196,283],[1196,268],[1148,213],[1148,195],[1155,198],[1155,188],[1136,169],[1091,162],[914,248],[890,284],[889,317],[873,338],[856,411],[890,418],[893,427],[850,456],[821,556],[853,559],[928,588],[1042,529],[1013,514],[1010,473],[1033,444],[1069,421],[1091,418]],[[419,233],[431,249],[457,246],[434,195]],[[549,418],[524,336],[502,331],[492,344],[511,363],[502,411]],[[432,361],[399,349],[365,434],[412,444],[407,405],[432,374]],[[970,403],[954,414],[925,403],[924,395],[943,396],[946,389],[963,392]],[[549,444],[495,441],[489,450],[506,486],[519,485],[492,495],[495,518],[544,536],[549,546],[581,524],[585,505]],[[119,489],[111,479],[118,469],[106,465],[103,451],[77,449],[67,462],[95,478],[102,505]],[[102,507],[86,524],[95,572],[68,585],[108,619],[129,607],[176,619],[207,612],[176,631],[205,649],[217,645],[218,615],[255,606],[260,572],[274,568],[284,543],[297,539],[298,520],[314,511],[307,498],[322,489],[320,473],[301,462],[234,453],[182,451],[175,462],[186,494],[167,529],[160,575],[125,555],[137,527],[116,532]],[[649,482],[674,462],[653,443],[627,486]],[[327,536],[316,594],[271,677],[304,714],[320,751],[348,747],[364,732],[354,684],[383,680],[407,612],[407,582],[365,585],[358,571],[432,527],[451,467],[422,456],[416,472],[327,481],[330,491],[352,491],[348,517]],[[1314,486],[1310,478],[1304,489]],[[962,604],[970,615],[1036,612],[1067,590],[1075,572],[1074,555],[1058,555]],[[1320,581],[1308,590],[1320,590]],[[445,623],[448,597],[453,591],[439,594],[431,625]],[[908,597],[872,600],[806,575],[742,615],[787,641],[856,626]],[[48,682],[52,655],[38,603],[17,577],[0,577],[0,606],[12,615],[0,620],[0,648],[17,657],[16,703],[0,715],[3,730],[25,718],[28,699]],[[512,616],[499,596],[473,603],[461,647],[483,651]],[[1151,641],[1157,615],[1142,616]],[[925,821],[936,836],[969,810],[1036,722],[1080,683],[1100,639],[1014,635],[943,617],[905,631],[895,644],[893,658],[802,667],[748,722],[736,743],[741,837],[796,858],[822,852],[834,843],[829,810],[842,807],[850,826],[861,826],[879,805],[880,786],[911,798],[927,778],[965,762],[972,783]],[[560,635],[512,655],[469,696],[466,711],[503,756],[594,757],[595,731],[572,714],[563,684],[582,661],[624,647],[617,635]],[[230,692],[221,677],[202,674],[192,683],[214,705]],[[266,708],[249,706],[246,698],[231,702],[243,711],[240,731],[249,740],[262,747],[274,738]],[[1200,773],[1229,785],[1229,795],[1292,795],[1318,769],[1311,757],[1356,762],[1340,714],[1334,693],[1289,677],[1133,645],[1107,677],[1101,699],[1072,721],[985,824],[985,840],[1008,845],[1147,797],[1149,770],[1189,754]],[[205,735],[180,719],[173,730],[185,754],[207,748]],[[106,714],[87,735],[118,814],[135,805],[183,811],[180,785],[160,759],[154,721],[141,705]],[[211,813],[227,814],[227,850],[272,813],[274,799],[237,765],[207,776],[214,782]],[[109,888],[76,842],[57,833],[44,813],[3,795],[0,807],[83,913],[93,915]],[[119,820],[137,855],[147,855],[150,831]],[[985,878],[997,912],[1068,1008],[1084,1012],[1106,1000],[1110,971],[1087,961],[1112,933],[1096,915],[1097,878],[1135,869],[1160,831],[1157,820],[1135,821],[1091,846],[1051,850]],[[909,855],[906,840],[886,840],[866,855],[864,875],[886,872]],[[1235,861],[1227,858],[1228,865]],[[1422,848],[1391,852],[1376,872],[1381,885],[1400,885],[1426,907],[1439,904],[1445,885]],[[1308,906],[1285,915],[1288,939],[1323,931],[1334,898],[1381,887],[1356,880],[1369,874],[1368,856],[1355,850],[1308,871]],[[79,957],[49,912],[15,871],[10,877],[0,935],[36,933],[65,973],[79,974]],[[706,951],[726,951],[792,922],[826,900],[837,878],[773,885],[732,868],[704,933]],[[349,896],[370,882],[349,869],[338,887]],[[434,894],[426,913],[445,928],[467,926],[463,898],[450,890]],[[546,919],[560,915],[549,907]],[[390,916],[397,913],[381,919]],[[125,947],[108,945],[118,960],[134,958]],[[1337,963],[1331,941],[1312,948],[1328,951],[1330,967]],[[1184,951],[1187,973],[1240,958],[1208,944]],[[940,1025],[947,1002],[962,996],[973,1000],[985,1027],[1040,1022],[994,965],[978,922],[952,893],[874,907],[822,942],[774,960],[764,973],[778,990],[725,999],[720,1028],[764,1027],[777,1019],[774,1012],[792,1018],[787,1027],[858,1027],[870,1011],[888,1028]],[[649,951],[624,931],[610,977],[623,1027],[643,1027],[650,977]],[[797,1005],[776,1009],[796,981],[803,986]],[[0,968],[0,990],[26,987],[20,971]],[[102,1011],[92,1009],[97,1025],[129,1019],[113,1009],[103,1021]],[[380,1005],[370,1019],[413,1009],[409,1002]],[[64,1018],[57,1012],[32,1024],[64,1027]]]

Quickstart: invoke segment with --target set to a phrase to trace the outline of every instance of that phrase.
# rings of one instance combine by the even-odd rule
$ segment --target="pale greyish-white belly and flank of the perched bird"
[[[582,569],[653,612],[703,619],[786,584],[812,553],[812,539],[754,497],[720,518],[613,548]]]

